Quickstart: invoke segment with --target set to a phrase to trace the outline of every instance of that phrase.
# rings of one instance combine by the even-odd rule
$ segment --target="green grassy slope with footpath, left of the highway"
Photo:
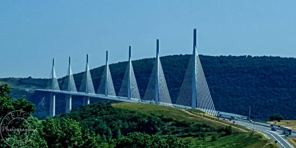
[[[230,124],[229,122],[226,122],[224,120],[219,120],[218,118],[215,118],[213,116],[207,116],[204,112],[197,111],[194,113],[200,113],[203,114],[203,117],[210,118],[211,120],[206,120],[204,118],[198,117],[196,115],[189,115],[183,110],[179,110],[176,108],[171,107],[165,107],[165,106],[159,106],[155,104],[143,104],[143,103],[116,103],[112,104],[113,107],[117,108],[123,108],[127,110],[134,110],[137,112],[142,112],[146,114],[155,114],[155,115],[164,115],[176,120],[186,120],[186,121],[192,121],[194,123],[206,123],[213,127],[225,127],[225,125],[213,122],[211,120],[217,120],[219,122]],[[235,125],[245,130],[250,131],[248,128]],[[234,131],[239,131],[237,129],[234,129]],[[210,147],[210,148],[237,148],[237,147],[245,147],[245,148],[275,148],[276,146],[273,144],[273,141],[270,139],[266,139],[264,136],[262,136],[259,133],[255,133],[254,135],[251,135],[250,132],[237,132],[231,136],[225,136],[222,138],[219,138],[217,141],[211,141],[211,137],[207,137],[206,141],[199,140],[198,138],[193,137],[186,137],[184,139],[191,139],[192,141],[192,148],[196,147]]]

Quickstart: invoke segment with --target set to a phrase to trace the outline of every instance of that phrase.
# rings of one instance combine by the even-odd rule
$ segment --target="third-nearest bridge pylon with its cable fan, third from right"
[[[129,46],[128,65],[126,67],[126,72],[124,73],[118,96],[127,97],[133,101],[139,101],[141,99],[131,62],[131,46]]]

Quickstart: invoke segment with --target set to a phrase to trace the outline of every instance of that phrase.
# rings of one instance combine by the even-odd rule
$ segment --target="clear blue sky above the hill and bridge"
[[[192,53],[192,31],[205,55],[296,57],[296,1],[39,1],[0,4],[0,78],[48,78],[89,66]],[[165,65],[163,65],[165,66]]]

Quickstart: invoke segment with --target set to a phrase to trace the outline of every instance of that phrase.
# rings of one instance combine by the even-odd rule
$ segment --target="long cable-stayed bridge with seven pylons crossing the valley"
[[[57,75],[54,69],[54,59],[49,83],[46,89],[37,91],[50,92],[49,116],[55,116],[55,96],[66,94],[66,111],[72,109],[72,95],[83,96],[83,105],[90,104],[90,98],[109,99],[121,102],[141,102],[154,103],[168,107],[183,107],[205,111],[211,115],[217,115],[209,88],[202,70],[196,45],[196,29],[193,30],[193,52],[186,70],[184,80],[176,104],[172,104],[168,86],[165,81],[163,68],[159,58],[159,40],[156,40],[156,59],[152,69],[149,83],[144,98],[140,97],[136,77],[131,62],[131,46],[129,46],[129,58],[126,72],[118,96],[116,96],[113,81],[108,64],[108,51],[106,51],[106,65],[99,85],[99,89],[94,90],[94,85],[89,69],[89,56],[86,55],[86,68],[79,90],[75,86],[71,69],[71,59],[69,57],[69,67],[67,76],[60,90]]]

